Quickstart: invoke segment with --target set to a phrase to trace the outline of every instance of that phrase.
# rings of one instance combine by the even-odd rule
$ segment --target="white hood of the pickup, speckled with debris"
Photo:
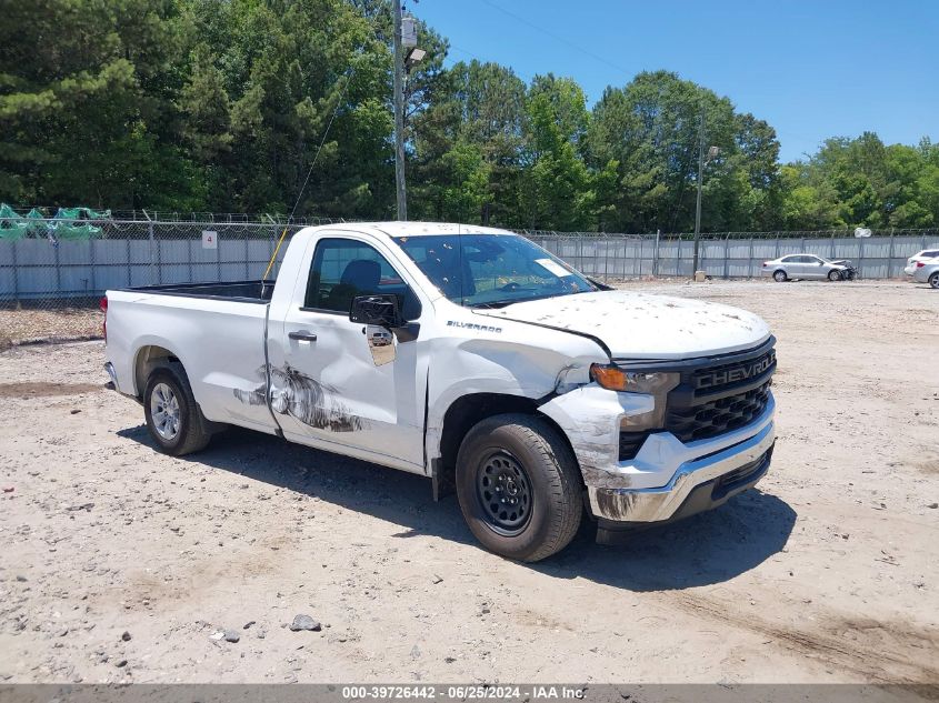
[[[479,314],[591,334],[613,359],[686,359],[756,347],[769,327],[720,303],[632,291],[597,291],[513,303]]]

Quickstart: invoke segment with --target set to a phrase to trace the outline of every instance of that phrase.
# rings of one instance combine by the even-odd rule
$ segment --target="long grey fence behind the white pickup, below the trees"
[[[339,222],[133,214],[144,217],[61,230],[48,220],[0,219],[0,309],[93,308],[108,289],[260,280],[284,229],[289,239],[306,224]],[[691,234],[520,233],[605,281],[692,274]],[[757,277],[762,261],[798,252],[850,259],[862,278],[898,278],[908,257],[939,247],[939,230],[875,231],[861,239],[847,231],[708,233],[699,244],[698,268],[713,278]]]

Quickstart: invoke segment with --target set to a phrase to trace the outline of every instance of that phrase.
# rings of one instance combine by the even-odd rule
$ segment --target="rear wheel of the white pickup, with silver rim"
[[[160,366],[147,379],[143,414],[150,436],[164,454],[191,454],[204,449],[212,439],[180,364]],[[170,420],[173,415],[174,421]]]

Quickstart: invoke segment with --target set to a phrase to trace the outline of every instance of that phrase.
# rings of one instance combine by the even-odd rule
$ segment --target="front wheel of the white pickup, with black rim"
[[[508,559],[537,562],[565,549],[580,526],[581,485],[570,448],[533,415],[482,420],[457,454],[463,518],[486,549]]]

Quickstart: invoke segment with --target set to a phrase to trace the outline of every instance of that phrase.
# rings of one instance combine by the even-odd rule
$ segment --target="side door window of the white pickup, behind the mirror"
[[[348,314],[353,298],[374,294],[397,295],[406,319],[420,317],[413,291],[374,248],[351,239],[322,239],[317,243],[304,308]]]

